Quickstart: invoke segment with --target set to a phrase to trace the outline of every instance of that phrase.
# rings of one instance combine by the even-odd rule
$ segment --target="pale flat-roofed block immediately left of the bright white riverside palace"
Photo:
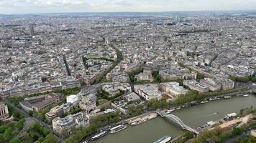
[[[134,92],[147,101],[152,99],[160,100],[162,98],[161,92],[158,90],[156,84],[135,85]]]

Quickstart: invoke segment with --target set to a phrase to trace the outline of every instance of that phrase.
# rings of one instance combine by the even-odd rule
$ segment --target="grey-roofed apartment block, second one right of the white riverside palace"
[[[219,92],[221,90],[221,83],[215,79],[204,78],[200,80],[200,84],[208,87],[211,92]]]

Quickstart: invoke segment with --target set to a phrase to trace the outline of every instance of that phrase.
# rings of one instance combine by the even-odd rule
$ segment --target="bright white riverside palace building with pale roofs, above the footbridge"
[[[160,89],[162,89],[165,94],[170,94],[171,96],[175,97],[182,94],[184,95],[189,92],[188,89],[181,87],[178,82],[161,83]]]

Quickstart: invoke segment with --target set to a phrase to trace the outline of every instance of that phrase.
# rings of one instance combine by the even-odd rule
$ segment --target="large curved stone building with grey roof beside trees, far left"
[[[24,102],[19,102],[19,105],[25,111],[40,112],[53,104],[57,104],[63,98],[63,94],[50,93],[39,97],[28,97]]]

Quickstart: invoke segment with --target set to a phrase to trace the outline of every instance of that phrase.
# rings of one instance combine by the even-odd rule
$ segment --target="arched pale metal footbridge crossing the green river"
[[[196,129],[193,129],[192,127],[189,127],[188,125],[184,124],[183,121],[181,121],[181,119],[176,117],[174,114],[163,114],[163,113],[160,113],[160,112],[156,112],[156,113],[159,114],[160,117],[166,117],[167,119],[170,119],[171,121],[175,122],[180,127],[182,127],[182,129],[188,130],[188,131],[193,132],[195,134],[199,134],[199,132],[196,131]]]

